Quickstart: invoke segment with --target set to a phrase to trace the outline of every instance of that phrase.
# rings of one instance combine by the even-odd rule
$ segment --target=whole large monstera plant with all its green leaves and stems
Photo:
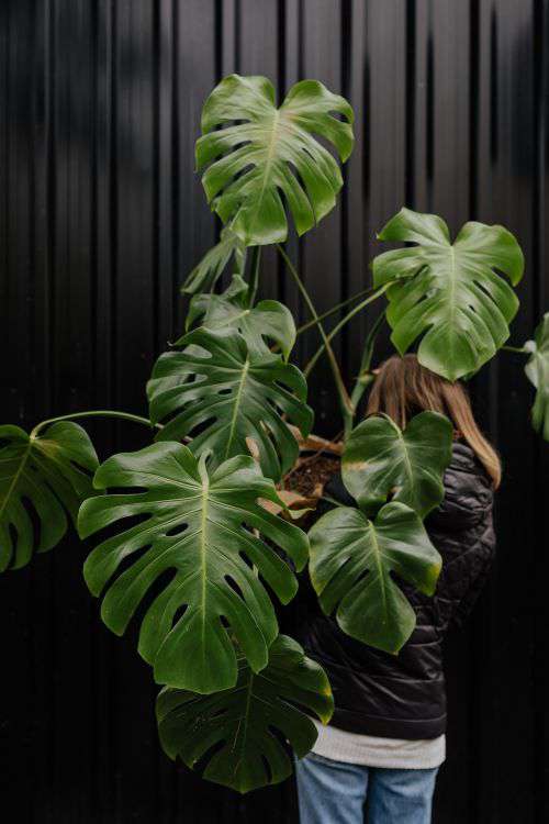
[[[334,208],[352,120],[349,103],[315,80],[293,86],[281,105],[264,77],[222,80],[197,141],[220,240],[181,287],[187,323],[153,369],[149,416],[92,410],[31,433],[0,427],[1,568],[52,549],[70,522],[82,539],[93,536],[86,582],[112,632],[141,625],[138,652],[161,686],[166,753],[240,792],[285,778],[288,747],[301,757],[314,744],[309,716],[328,722],[333,710],[323,670],[279,634],[273,599],[295,597],[295,572],[309,560],[321,608],[352,637],[395,654],[415,625],[405,588],[436,588],[440,557],[423,520],[442,500],[450,423],[424,412],[404,431],[385,416],[356,424],[384,320],[399,353],[416,345],[419,361],[448,380],[473,375],[502,348],[523,354],[536,388],[533,423],[549,439],[549,315],[531,341],[506,347],[524,259],[503,226],[467,223],[452,242],[440,218],[403,209],[379,237],[406,245],[373,260],[372,286],[316,312],[283,244],[290,226],[303,235]],[[300,329],[282,303],[258,300],[268,244],[309,313]],[[332,339],[373,301],[383,305],[350,385]],[[291,356],[304,333],[320,339],[300,369]],[[313,427],[307,378],[323,355],[354,504],[306,535],[282,489]],[[98,466],[72,420],[86,416],[144,424],[150,443]]]

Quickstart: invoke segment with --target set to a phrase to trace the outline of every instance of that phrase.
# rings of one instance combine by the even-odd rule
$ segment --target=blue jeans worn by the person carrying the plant
[[[310,753],[295,761],[301,824],[429,824],[438,768],[393,770]]]

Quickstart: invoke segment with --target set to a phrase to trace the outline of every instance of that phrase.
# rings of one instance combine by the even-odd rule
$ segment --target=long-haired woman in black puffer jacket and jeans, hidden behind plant
[[[301,623],[301,642],[325,668],[336,705],[330,725],[317,725],[313,751],[296,762],[301,824],[359,824],[365,802],[370,824],[430,822],[445,759],[442,639],[450,627],[461,626],[486,579],[501,467],[459,382],[434,375],[415,355],[386,360],[367,413],[384,412],[404,427],[424,410],[447,415],[456,442],[444,502],[425,521],[442,556],[437,591],[427,598],[403,584],[417,625],[397,656],[350,638],[316,608]],[[352,503],[340,476],[325,491]],[[321,513],[327,509],[323,501]]]

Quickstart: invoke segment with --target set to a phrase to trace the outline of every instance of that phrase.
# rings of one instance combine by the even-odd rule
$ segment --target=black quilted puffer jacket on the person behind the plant
[[[455,445],[445,489],[441,506],[425,522],[442,556],[437,591],[427,598],[401,582],[416,611],[417,626],[397,656],[345,635],[322,614],[311,593],[306,598],[299,638],[328,675],[336,704],[332,724],[340,730],[406,739],[434,738],[446,730],[442,639],[474,604],[495,539],[492,487],[469,446]],[[352,504],[340,476],[329,481],[326,493]]]

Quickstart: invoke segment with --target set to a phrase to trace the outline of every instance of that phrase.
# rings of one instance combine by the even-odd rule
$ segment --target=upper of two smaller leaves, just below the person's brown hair
[[[362,421],[341,459],[345,486],[360,508],[376,513],[391,494],[425,517],[444,498],[452,426],[438,412],[422,412],[402,430],[386,415]]]

